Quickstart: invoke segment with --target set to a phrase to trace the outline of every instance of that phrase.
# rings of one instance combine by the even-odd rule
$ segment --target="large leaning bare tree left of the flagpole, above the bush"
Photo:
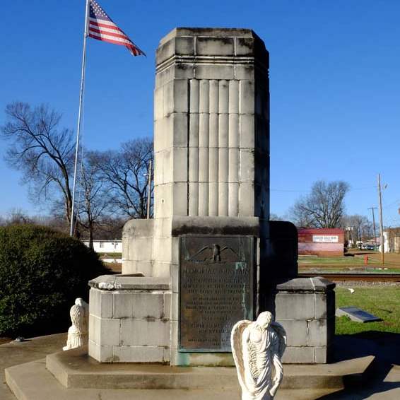
[[[70,176],[73,167],[73,133],[59,129],[61,114],[45,105],[24,102],[6,106],[2,136],[10,142],[6,161],[23,173],[35,201],[61,199],[66,220],[71,218]]]

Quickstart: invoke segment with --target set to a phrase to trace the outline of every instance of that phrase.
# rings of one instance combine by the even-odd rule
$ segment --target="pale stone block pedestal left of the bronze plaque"
[[[170,361],[170,281],[99,276],[89,282],[89,355],[100,363]]]

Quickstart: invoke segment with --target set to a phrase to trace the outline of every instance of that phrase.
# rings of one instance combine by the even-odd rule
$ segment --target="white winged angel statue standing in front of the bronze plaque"
[[[285,329],[273,322],[271,312],[261,312],[257,321],[237,322],[230,343],[242,400],[272,400],[283,378]]]

